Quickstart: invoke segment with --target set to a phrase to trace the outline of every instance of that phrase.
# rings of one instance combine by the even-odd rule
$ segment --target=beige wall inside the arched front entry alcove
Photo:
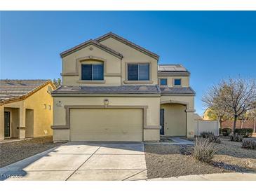
[[[182,104],[161,104],[164,109],[164,135],[186,136],[186,106]]]

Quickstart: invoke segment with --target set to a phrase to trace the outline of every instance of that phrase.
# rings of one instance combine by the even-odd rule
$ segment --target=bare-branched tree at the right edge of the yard
[[[236,128],[236,121],[248,111],[255,109],[256,104],[255,80],[244,80],[242,78],[229,78],[213,85],[203,95],[203,102],[213,111],[217,111],[234,119],[233,131]]]

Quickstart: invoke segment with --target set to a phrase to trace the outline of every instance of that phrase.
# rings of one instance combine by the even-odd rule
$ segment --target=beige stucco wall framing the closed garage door
[[[103,105],[104,100],[109,100],[109,106],[147,106],[147,126],[157,128],[156,130],[144,129],[144,141],[159,141],[159,110],[160,97],[53,97],[54,114],[53,125],[66,124],[65,106],[69,105]],[[58,105],[62,104],[61,107]],[[118,110],[118,109],[116,109]],[[97,114],[95,114],[97,115]],[[133,121],[133,120],[131,120]],[[81,124],[83,119],[81,119]],[[149,128],[150,129],[150,128]],[[54,141],[67,140],[68,130],[54,130]]]

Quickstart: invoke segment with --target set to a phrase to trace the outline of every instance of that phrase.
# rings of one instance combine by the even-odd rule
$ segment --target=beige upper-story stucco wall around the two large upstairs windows
[[[62,76],[63,85],[122,85],[126,83],[126,64],[127,62],[147,62],[150,64],[150,82],[151,84],[157,84],[157,60],[145,55],[144,53],[127,46],[124,43],[116,41],[115,39],[109,38],[101,42],[105,46],[112,48],[123,55],[123,59],[107,53],[105,50],[97,48],[96,46],[90,45],[76,52],[67,55],[62,58],[62,74],[75,73],[76,72],[76,60],[82,60],[79,62],[79,76]],[[103,83],[88,83],[81,81],[81,63],[86,63],[86,59],[81,58],[92,57],[95,60],[104,61],[105,76]],[[88,59],[89,60],[89,59]],[[92,62],[90,60],[90,62]],[[89,63],[90,63],[89,62]],[[92,62],[93,63],[93,62]]]

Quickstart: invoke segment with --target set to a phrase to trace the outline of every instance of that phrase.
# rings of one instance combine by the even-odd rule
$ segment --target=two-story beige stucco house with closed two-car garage
[[[194,137],[190,73],[113,33],[60,53],[62,86],[52,92],[53,139],[158,142]]]

